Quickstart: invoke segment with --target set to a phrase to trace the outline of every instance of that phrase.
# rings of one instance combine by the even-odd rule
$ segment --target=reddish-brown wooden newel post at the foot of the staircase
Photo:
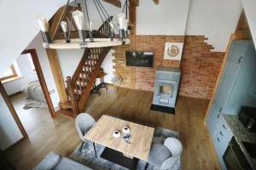
[[[74,114],[74,116],[77,116],[80,111],[79,111],[79,104],[78,104],[78,101],[76,99],[76,94],[74,92],[74,84],[73,84],[74,82],[71,79],[71,77],[67,77],[66,82],[67,82],[67,92],[69,94],[73,114]]]

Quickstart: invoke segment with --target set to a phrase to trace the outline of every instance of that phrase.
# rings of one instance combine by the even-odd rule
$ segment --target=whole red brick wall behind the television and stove
[[[136,67],[135,88],[153,91],[157,66],[181,67],[179,94],[210,99],[224,53],[212,52],[212,45],[208,45],[206,39],[204,36],[137,36],[137,50],[153,51],[154,66]],[[165,43],[168,41],[184,42],[181,61],[164,60]]]

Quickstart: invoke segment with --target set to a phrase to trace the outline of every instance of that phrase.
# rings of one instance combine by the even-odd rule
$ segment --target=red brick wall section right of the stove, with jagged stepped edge
[[[210,99],[224,52],[212,52],[203,36],[186,36],[181,61],[182,79],[179,94]]]

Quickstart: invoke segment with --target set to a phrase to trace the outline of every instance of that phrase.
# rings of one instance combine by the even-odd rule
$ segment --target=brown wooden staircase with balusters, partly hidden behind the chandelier
[[[94,37],[109,37],[110,27],[108,21],[110,17],[96,31]],[[90,90],[96,81],[97,74],[100,71],[103,60],[108,54],[111,47],[107,48],[85,48],[82,59],[77,66],[73,77],[67,77],[67,96],[66,103],[60,103],[60,108],[66,112],[67,116],[77,116],[84,110],[87,99],[90,95]],[[71,112],[72,111],[72,112]]]

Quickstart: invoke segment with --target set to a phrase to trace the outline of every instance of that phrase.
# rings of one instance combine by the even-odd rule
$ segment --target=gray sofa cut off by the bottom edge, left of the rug
[[[85,167],[79,162],[68,159],[67,157],[60,156],[54,152],[49,152],[44,159],[33,168],[33,170],[92,170]]]

